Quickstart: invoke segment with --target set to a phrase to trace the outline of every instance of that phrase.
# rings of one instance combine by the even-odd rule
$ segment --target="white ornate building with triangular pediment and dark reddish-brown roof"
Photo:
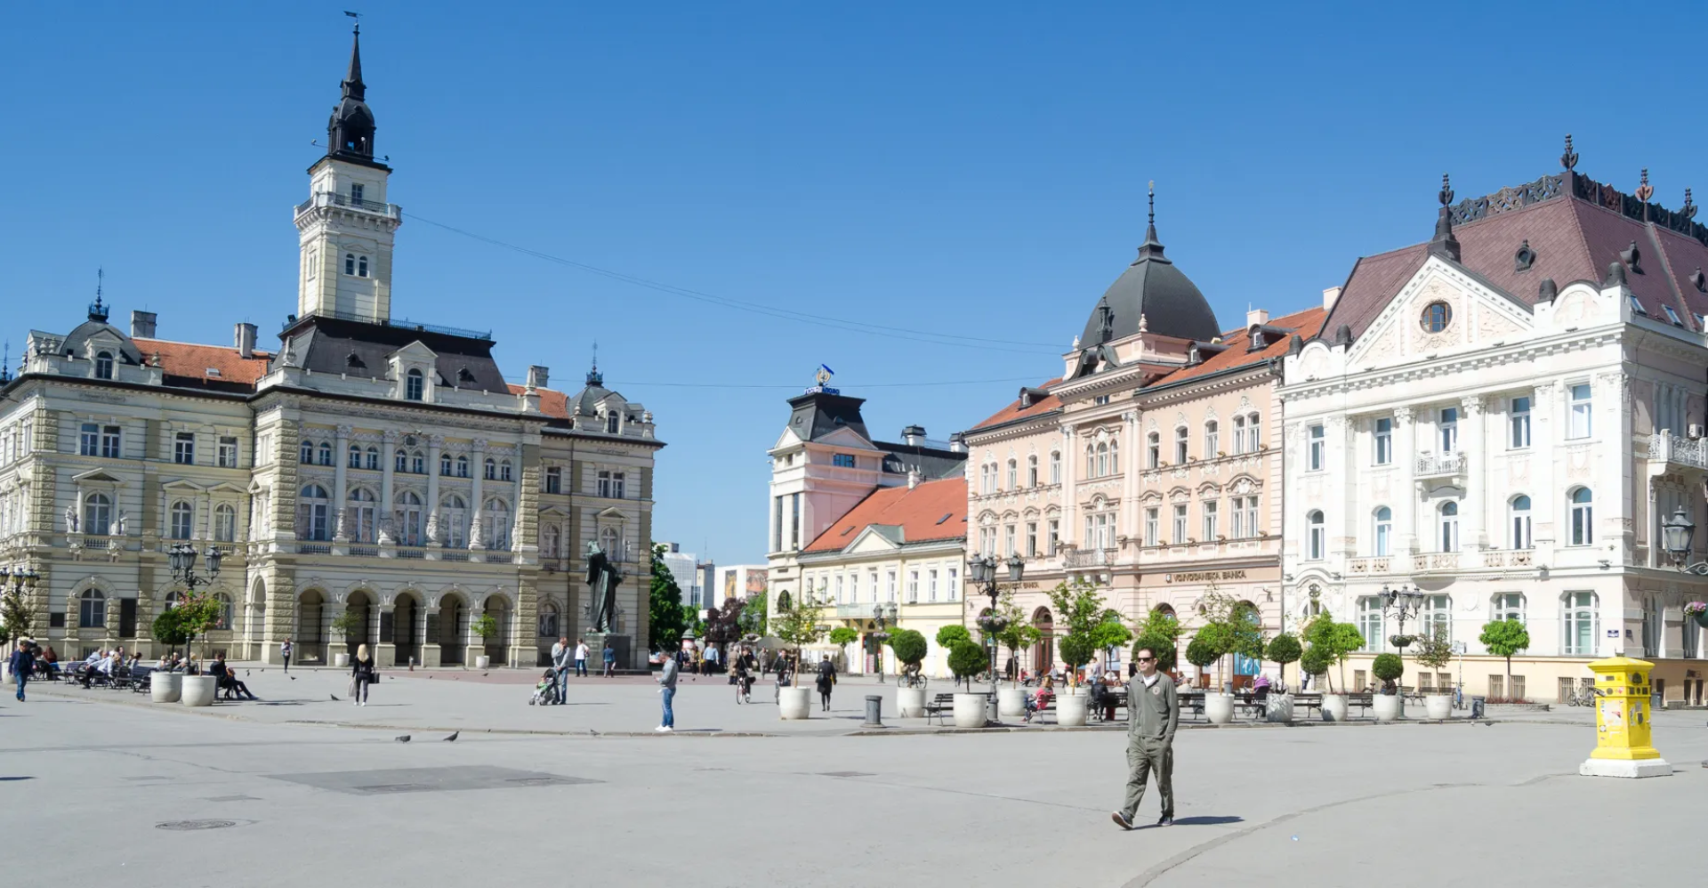
[[[1583,664],[1657,663],[1669,700],[1703,698],[1708,581],[1672,567],[1658,523],[1705,524],[1708,229],[1647,183],[1565,171],[1483,198],[1443,186],[1435,237],[1368,256],[1324,294],[1319,336],[1284,360],[1290,625],[1356,622],[1370,656],[1401,634],[1383,587],[1418,587],[1404,634],[1448,627],[1467,693],[1554,700]],[[1703,536],[1691,560],[1703,558]],[[1505,663],[1477,640],[1522,620]],[[1354,675],[1356,673],[1356,675]]]

